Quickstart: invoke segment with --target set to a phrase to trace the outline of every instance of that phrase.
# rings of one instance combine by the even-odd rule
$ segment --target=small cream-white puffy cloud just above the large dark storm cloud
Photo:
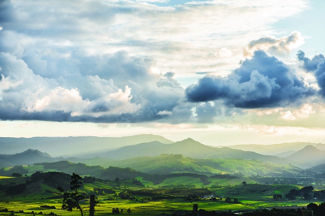
[[[268,50],[273,54],[288,53],[304,43],[300,32],[294,31],[287,37],[265,36],[249,42],[244,50],[245,56],[251,56],[256,50]]]

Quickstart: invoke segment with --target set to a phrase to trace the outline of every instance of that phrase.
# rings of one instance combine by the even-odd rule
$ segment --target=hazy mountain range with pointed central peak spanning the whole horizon
[[[2,138],[1,138],[2,139]],[[0,141],[1,141],[0,139]],[[20,139],[31,139],[31,138],[16,138]],[[83,140],[82,142],[77,142],[78,140]],[[73,153],[77,155],[79,152],[81,157],[51,157],[50,154],[42,153],[39,150],[23,151],[19,154],[12,155],[0,155],[0,167],[14,166],[14,165],[28,165],[38,162],[54,162],[69,160],[71,162],[81,162],[91,165],[102,165],[102,166],[118,166],[122,164],[122,161],[127,159],[139,158],[139,157],[157,157],[162,154],[173,154],[182,155],[184,157],[189,157],[193,159],[245,159],[245,160],[257,160],[262,163],[275,163],[275,164],[293,164],[299,166],[300,168],[310,168],[312,166],[325,163],[325,151],[317,149],[315,146],[322,147],[323,144],[306,145],[308,143],[286,143],[283,144],[285,148],[294,146],[294,150],[289,150],[286,154],[292,153],[287,157],[276,157],[271,155],[262,155],[254,151],[243,151],[239,149],[232,149],[229,147],[210,147],[203,145],[191,138],[172,142],[161,136],[155,135],[137,135],[131,137],[121,137],[121,138],[103,138],[109,143],[95,143],[89,145],[89,141],[101,140],[102,138],[96,137],[57,137],[56,139],[49,138],[35,138],[38,140],[34,144],[28,142],[18,142],[10,143],[9,138],[3,138],[0,146],[4,146],[4,151],[9,151],[5,146],[13,146],[10,151],[13,151],[14,147],[23,148],[23,143],[25,146],[38,146],[42,149],[47,149],[46,152],[53,152],[56,149],[56,153],[65,153],[65,155],[70,155]],[[7,142],[3,142],[7,140]],[[71,141],[73,140],[73,142]],[[97,141],[98,141],[97,140]],[[145,141],[143,143],[137,143],[140,141]],[[153,141],[152,141],[153,140]],[[11,139],[13,142],[13,140]],[[21,140],[20,140],[21,141]],[[50,143],[45,143],[45,141],[51,141]],[[98,142],[99,142],[98,141]],[[148,142],[146,142],[148,141]],[[57,142],[57,143],[56,143]],[[3,144],[4,143],[4,144]],[[129,145],[128,145],[129,144]],[[126,145],[126,146],[125,146]],[[295,151],[296,146],[303,146],[303,148]],[[85,149],[82,149],[84,146]],[[108,148],[105,148],[105,146]],[[121,146],[121,147],[117,147]],[[274,147],[273,152],[279,150],[279,144],[269,145],[269,146],[254,146],[256,149],[270,148]],[[89,148],[91,147],[91,150]],[[114,147],[114,148],[112,148]],[[231,146],[232,147],[232,146]],[[98,148],[102,148],[99,152],[95,153]],[[284,148],[284,149],[285,149]],[[293,147],[292,147],[293,148]],[[88,151],[90,153],[84,153]],[[291,152],[290,152],[291,151]],[[55,152],[55,151],[54,151]],[[119,162],[118,162],[119,161]],[[97,164],[95,164],[97,163]],[[131,164],[130,164],[131,165]],[[175,171],[176,172],[176,171]]]

